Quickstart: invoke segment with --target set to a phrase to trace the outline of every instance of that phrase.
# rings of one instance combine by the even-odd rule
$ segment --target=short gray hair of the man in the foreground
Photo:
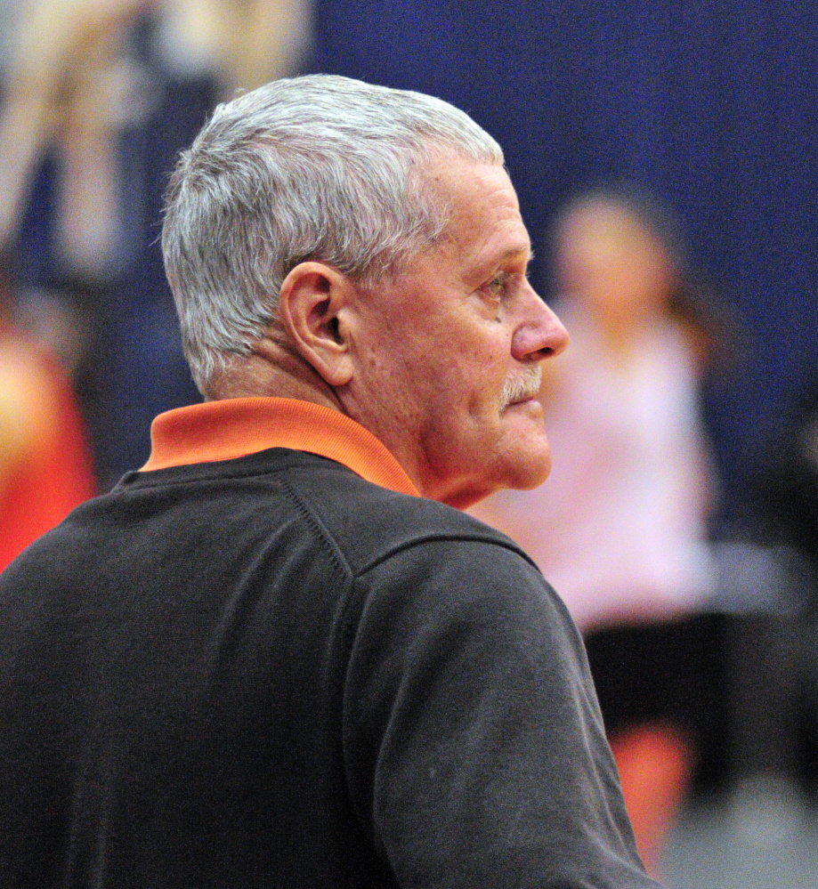
[[[364,285],[436,244],[449,206],[435,152],[501,165],[463,111],[347,77],[272,82],[215,109],[166,193],[162,249],[198,388],[247,355],[305,260]]]

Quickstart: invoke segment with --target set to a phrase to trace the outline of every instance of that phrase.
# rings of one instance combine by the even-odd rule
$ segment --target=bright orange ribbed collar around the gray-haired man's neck
[[[289,398],[206,401],[160,414],[150,427],[142,472],[246,457],[268,448],[328,457],[401,494],[418,491],[401,465],[363,426],[320,404]]]

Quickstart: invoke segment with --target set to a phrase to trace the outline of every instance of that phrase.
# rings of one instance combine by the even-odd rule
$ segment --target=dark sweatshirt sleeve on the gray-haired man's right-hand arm
[[[398,885],[655,887],[579,633],[539,571],[435,541],[359,584],[345,767]]]

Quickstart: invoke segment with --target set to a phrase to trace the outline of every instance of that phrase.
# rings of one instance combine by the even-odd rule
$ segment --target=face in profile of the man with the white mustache
[[[539,362],[568,336],[526,278],[530,239],[503,168],[449,156],[428,175],[449,230],[362,300],[349,395],[426,497],[465,508],[546,479]]]

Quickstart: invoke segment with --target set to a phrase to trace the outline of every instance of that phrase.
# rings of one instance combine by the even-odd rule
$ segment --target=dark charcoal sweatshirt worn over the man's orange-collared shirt
[[[323,457],[130,473],[0,576],[4,889],[628,889],[579,634]]]

